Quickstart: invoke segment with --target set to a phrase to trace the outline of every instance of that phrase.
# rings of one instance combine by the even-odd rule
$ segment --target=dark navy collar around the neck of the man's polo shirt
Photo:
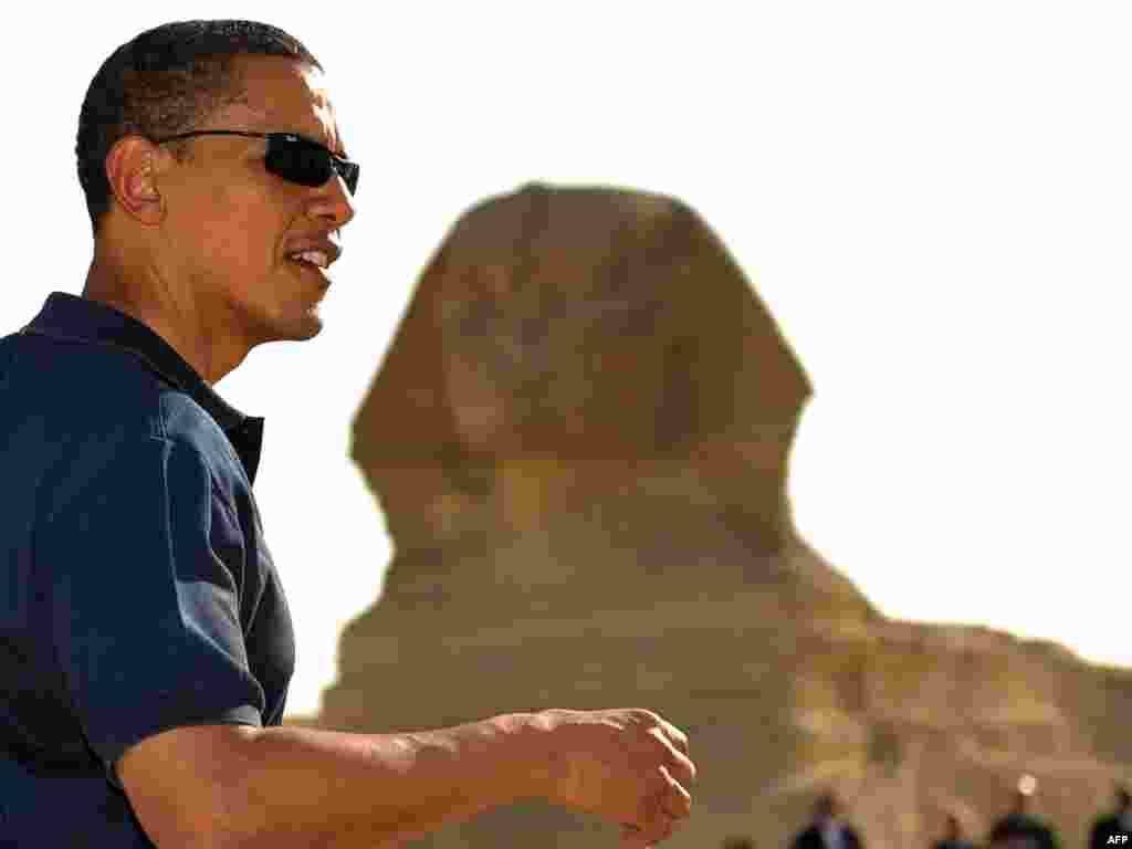
[[[263,445],[263,418],[245,415],[225,402],[172,345],[146,324],[105,303],[67,292],[52,292],[43,309],[23,332],[110,345],[134,354],[165,383],[204,408],[232,443],[248,480],[255,480]]]

